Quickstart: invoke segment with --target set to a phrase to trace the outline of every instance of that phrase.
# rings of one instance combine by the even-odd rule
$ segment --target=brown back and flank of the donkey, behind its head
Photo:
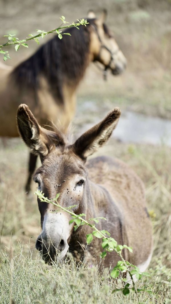
[[[96,157],[87,163],[87,168],[90,179],[106,189],[110,197],[105,200],[102,212],[98,206],[99,216],[107,219],[103,227],[106,225],[106,230],[118,244],[133,247],[133,254],[125,250],[125,258],[145,271],[152,256],[152,227],[143,182],[127,164],[117,158]],[[101,200],[97,198],[95,204],[99,202]],[[116,217],[118,221],[113,223]]]

